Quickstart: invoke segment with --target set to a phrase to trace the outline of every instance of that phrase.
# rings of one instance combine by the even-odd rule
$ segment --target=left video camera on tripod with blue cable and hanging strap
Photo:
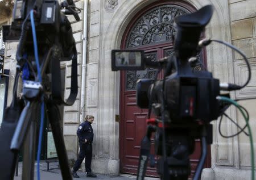
[[[0,158],[2,167],[0,179],[13,179],[16,160],[22,147],[24,147],[22,179],[34,179],[35,137],[38,124],[36,120],[41,114],[38,136],[38,161],[40,161],[44,107],[47,109],[51,124],[61,174],[63,179],[72,179],[57,105],[71,106],[76,101],[77,51],[71,23],[66,15],[72,14],[78,21],[80,11],[72,0],[61,4],[57,0],[17,0],[11,26],[3,27],[3,40],[19,40],[19,44],[16,51],[17,67],[13,101],[10,107],[6,108],[0,129],[2,144],[0,154],[5,154]],[[60,61],[69,60],[72,60],[71,93],[67,101],[64,101],[60,84]],[[23,89],[18,98],[20,72],[22,72]]]

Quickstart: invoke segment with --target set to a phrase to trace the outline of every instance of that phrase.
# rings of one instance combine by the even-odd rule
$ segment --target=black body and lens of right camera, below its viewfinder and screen
[[[169,123],[181,123],[185,119],[191,121],[200,119],[209,123],[218,118],[220,112],[216,97],[220,95],[220,82],[212,77],[212,73],[175,72],[165,78],[164,90],[162,87],[163,80],[153,83],[152,79],[139,79],[137,105],[141,108],[149,108],[149,99],[151,99],[154,114],[161,116],[164,108],[164,111],[168,112]],[[161,107],[163,101],[166,106]]]

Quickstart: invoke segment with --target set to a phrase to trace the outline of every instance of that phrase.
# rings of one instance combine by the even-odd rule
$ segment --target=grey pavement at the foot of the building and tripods
[[[34,179],[36,178],[36,168],[37,168],[37,163],[35,163],[35,173],[34,173]],[[16,173],[16,171],[15,171]],[[97,178],[87,178],[86,174],[83,171],[78,170],[77,174],[80,176],[80,178],[73,178],[74,180],[77,179],[104,179],[104,180],[135,180],[136,175],[133,174],[119,174],[117,177],[111,177],[109,175],[105,174],[97,174]],[[60,180],[63,179],[61,177],[61,172],[59,168],[59,163],[58,162],[51,162],[49,163],[49,170],[47,170],[47,163],[46,161],[40,161],[40,179],[42,180]],[[18,176],[16,174],[14,175],[14,180],[22,180],[22,162],[19,162],[18,166]],[[159,180],[159,178],[152,178],[152,177],[145,177],[145,180]]]

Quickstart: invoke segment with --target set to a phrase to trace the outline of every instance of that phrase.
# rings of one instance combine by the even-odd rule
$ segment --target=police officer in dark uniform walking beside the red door
[[[96,178],[97,175],[92,173],[90,169],[90,164],[92,162],[92,142],[93,142],[93,128],[92,123],[94,116],[87,115],[85,122],[79,125],[77,129],[77,136],[79,138],[79,158],[76,160],[75,165],[73,166],[72,175],[74,178],[79,178],[76,171],[79,169],[82,161],[85,158],[85,171],[86,177]]]

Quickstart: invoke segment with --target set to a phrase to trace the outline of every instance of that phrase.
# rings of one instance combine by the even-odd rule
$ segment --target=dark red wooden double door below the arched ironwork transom
[[[173,51],[172,47],[167,46],[147,49],[145,52],[146,56],[157,60],[171,55]],[[156,73],[156,69],[150,68],[142,71],[121,72],[120,168],[122,173],[137,173],[141,140],[147,131],[146,119],[148,111],[139,108],[136,104],[136,81],[139,78],[154,78]],[[162,73],[158,75],[159,78],[162,78],[162,76]],[[190,157],[192,174],[195,172],[201,153],[200,140],[196,140],[195,144],[195,151]],[[208,152],[210,153],[209,150]],[[154,154],[154,138],[151,139],[151,154]],[[210,167],[210,154],[205,167]],[[158,176],[156,168],[150,168],[149,166],[146,174],[149,176]]]

